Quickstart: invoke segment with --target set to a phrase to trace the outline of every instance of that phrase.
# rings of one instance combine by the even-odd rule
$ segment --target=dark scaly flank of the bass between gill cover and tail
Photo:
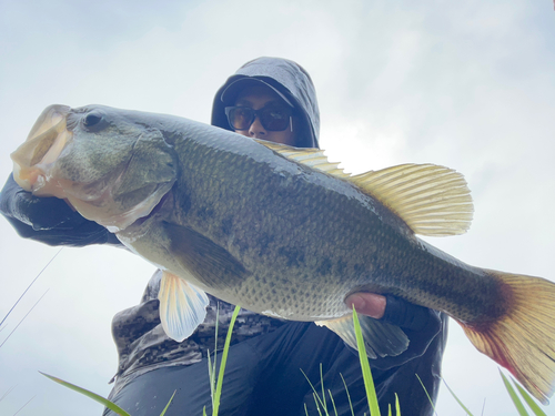
[[[231,301],[255,312],[287,305],[296,312],[285,317],[297,321],[343,316],[337,293],[359,290],[454,311],[468,322],[490,316],[488,305],[498,304],[496,291],[487,290],[497,282],[426,251],[406,224],[352,184],[255,142],[214,140],[213,146],[206,133],[192,135],[203,141],[174,143],[181,165],[175,201],[184,207],[174,212],[179,223],[225,247],[252,273],[239,287],[226,287],[234,292]]]

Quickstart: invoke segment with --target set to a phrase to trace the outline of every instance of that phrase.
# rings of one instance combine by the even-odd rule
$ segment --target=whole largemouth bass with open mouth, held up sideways
[[[205,293],[314,321],[355,346],[345,298],[392,294],[456,319],[478,351],[541,402],[555,384],[555,284],[464,264],[417,239],[464,233],[464,179],[406,164],[351,176],[320,150],[190,120],[90,105],[47,108],[12,154],[14,179],[64,199],[164,271],[160,314],[182,341]],[[363,317],[369,356],[408,339]]]

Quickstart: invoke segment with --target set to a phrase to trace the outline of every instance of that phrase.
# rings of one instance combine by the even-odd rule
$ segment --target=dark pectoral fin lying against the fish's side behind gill
[[[165,222],[169,253],[209,288],[225,290],[241,284],[250,272],[230,252],[196,231]]]

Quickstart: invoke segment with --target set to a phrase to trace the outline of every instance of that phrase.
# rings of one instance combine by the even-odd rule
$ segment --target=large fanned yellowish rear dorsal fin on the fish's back
[[[464,234],[474,211],[463,175],[434,164],[401,164],[349,179],[421,235]]]

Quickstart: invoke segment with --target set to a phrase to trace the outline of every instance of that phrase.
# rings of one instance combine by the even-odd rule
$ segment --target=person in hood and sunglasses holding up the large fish
[[[250,61],[216,92],[212,124],[253,139],[319,148],[320,112],[312,80],[289,60]],[[34,197],[11,176],[0,196],[0,211],[20,235],[50,245],[120,244],[63,201]],[[160,323],[160,281],[158,271],[140,304],[113,318],[119,366],[109,399],[133,416],[157,415],[176,392],[168,416],[201,415],[204,407],[211,413],[208,355],[222,348],[234,306],[209,296],[205,321],[178,343]],[[401,355],[371,361],[381,412],[387,414],[396,394],[404,413],[432,415],[416,375],[435,400],[446,316],[393,296],[360,293],[345,302],[401,326],[411,341]],[[319,404],[310,383],[316,392],[322,392],[322,384],[331,392],[339,415],[351,415],[351,406],[356,415],[367,412],[357,353],[327,328],[242,310],[232,334],[220,415],[316,415]],[[105,409],[103,415],[115,414]]]

